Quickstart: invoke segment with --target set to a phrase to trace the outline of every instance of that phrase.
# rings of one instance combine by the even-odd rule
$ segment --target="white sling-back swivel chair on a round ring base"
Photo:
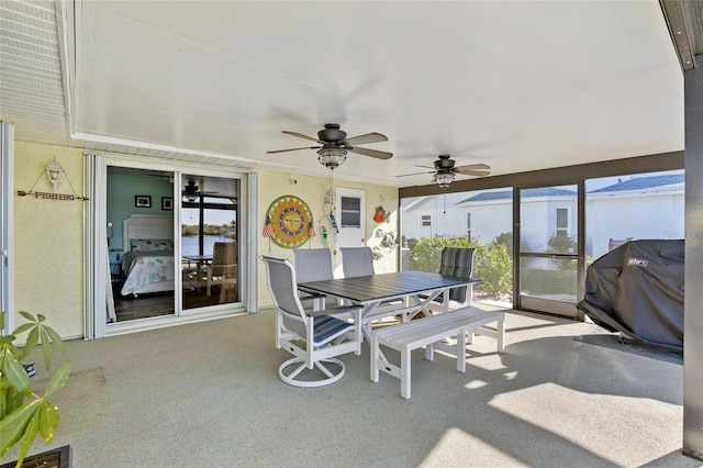
[[[320,311],[306,311],[298,296],[298,279],[290,261],[283,258],[259,257],[266,266],[268,292],[276,307],[276,347],[294,357],[278,369],[282,381],[295,387],[321,387],[344,377],[342,354],[361,354],[360,305],[325,305]],[[336,319],[331,313],[352,313],[354,323]],[[292,370],[291,370],[292,369]],[[304,370],[308,372],[303,372]]]

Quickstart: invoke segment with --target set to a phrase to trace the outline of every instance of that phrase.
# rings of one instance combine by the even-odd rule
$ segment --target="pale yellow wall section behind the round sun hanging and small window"
[[[295,181],[295,182],[293,182]],[[369,183],[348,182],[345,180],[335,180],[334,187],[346,187],[353,189],[362,189],[366,192],[366,235],[367,245],[369,247],[379,246],[381,238],[376,237],[375,233],[377,229],[382,227],[383,231],[392,231],[398,237],[398,189],[394,187],[382,187]],[[259,172],[259,190],[258,190],[258,212],[259,219],[256,220],[257,233],[259,235],[258,255],[267,255],[271,257],[288,258],[293,261],[293,250],[289,248],[279,247],[268,238],[261,236],[264,224],[266,222],[266,212],[269,205],[277,198],[284,194],[294,194],[302,199],[310,210],[315,220],[315,231],[317,236],[306,243],[302,248],[323,247],[323,241],[321,235],[321,226],[319,219],[323,216],[324,199],[330,190],[330,181],[326,178],[308,177],[308,176],[291,176],[290,174],[279,172]],[[372,220],[376,207],[382,205],[389,214],[388,221],[382,224],[378,224]],[[333,255],[338,254],[336,252],[336,245],[334,236],[328,236],[328,247],[333,250]],[[398,270],[398,247],[381,248],[382,257],[375,261],[375,269],[377,272],[389,272]],[[259,308],[268,308],[272,305],[271,298],[266,287],[266,270],[264,265],[259,263],[258,268],[258,301]]]

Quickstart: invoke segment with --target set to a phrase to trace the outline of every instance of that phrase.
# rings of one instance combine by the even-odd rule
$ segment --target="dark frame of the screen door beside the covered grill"
[[[520,242],[520,239],[522,238],[521,191],[527,189],[548,188],[567,185],[577,187],[576,252],[573,254],[522,252]],[[513,263],[513,304],[515,309],[567,316],[578,321],[583,321],[584,314],[576,308],[576,303],[521,294],[521,291],[523,289],[521,265],[523,259],[548,258],[577,261],[577,302],[579,300],[578,298],[583,297],[585,285],[585,183],[583,179],[570,182],[560,181],[550,185],[523,185],[513,187],[513,220],[515,223],[515,227],[513,230],[513,258],[515,258],[515,261]]]

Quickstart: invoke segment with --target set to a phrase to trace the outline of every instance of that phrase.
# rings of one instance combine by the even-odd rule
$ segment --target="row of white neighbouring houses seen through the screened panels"
[[[593,190],[587,183],[587,255],[598,258],[628,238],[683,238],[684,175],[617,179]],[[406,238],[466,236],[486,244],[512,233],[510,189],[447,193],[403,200]],[[555,235],[577,234],[576,191],[560,188],[522,191],[521,248],[544,252]]]

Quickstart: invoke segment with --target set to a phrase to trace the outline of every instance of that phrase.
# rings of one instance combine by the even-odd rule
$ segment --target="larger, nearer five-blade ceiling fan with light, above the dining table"
[[[317,132],[317,137],[303,135],[298,132],[290,132],[283,130],[283,133],[288,135],[298,136],[299,138],[309,140],[311,142],[320,143],[322,146],[306,146],[302,148],[289,148],[289,149],[275,149],[266,152],[268,154],[297,152],[299,149],[317,149],[317,160],[323,166],[334,169],[339,167],[347,158],[348,153],[357,153],[364,156],[370,156],[378,159],[390,159],[393,157],[392,153],[381,152],[378,149],[361,148],[356,145],[366,143],[387,142],[388,137],[380,133],[367,133],[364,135],[353,136],[347,138],[347,133],[339,129],[339,124],[326,123],[324,130]]]

